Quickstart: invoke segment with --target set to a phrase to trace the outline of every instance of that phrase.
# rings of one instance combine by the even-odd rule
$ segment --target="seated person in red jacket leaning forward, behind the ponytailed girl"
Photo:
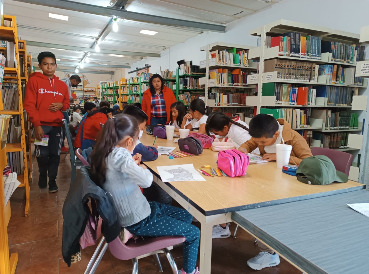
[[[118,111],[111,108],[91,111],[81,122],[73,146],[83,150],[95,145],[96,138],[101,131],[100,123],[105,124],[108,118],[113,118],[115,114],[118,114]]]

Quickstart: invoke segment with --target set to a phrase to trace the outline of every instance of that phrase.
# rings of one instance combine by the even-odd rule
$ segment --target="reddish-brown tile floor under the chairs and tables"
[[[64,157],[64,155],[62,155]],[[69,156],[68,156],[69,157]],[[35,160],[35,159],[34,159]],[[70,184],[70,162],[68,158],[61,160],[57,193],[48,193],[47,189],[38,188],[37,162],[34,161],[32,177],[31,202],[29,217],[24,217],[24,188],[18,188],[11,197],[12,216],[8,225],[9,252],[18,253],[16,274],[81,274],[84,273],[96,247],[82,250],[82,260],[72,264],[70,268],[64,263],[61,254],[63,216],[62,207]],[[235,225],[231,225],[233,232]],[[287,261],[281,259],[279,266],[254,271],[247,266],[246,261],[258,254],[258,246],[254,239],[244,230],[239,229],[236,239],[213,240],[212,274],[301,274]],[[177,266],[182,268],[182,248],[172,250]],[[172,273],[165,256],[161,254],[163,274]],[[96,274],[130,274],[131,261],[115,259],[106,252]],[[158,273],[152,256],[139,260],[139,274]]]

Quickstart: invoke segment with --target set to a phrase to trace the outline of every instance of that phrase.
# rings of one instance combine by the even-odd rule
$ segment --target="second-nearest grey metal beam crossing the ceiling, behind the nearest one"
[[[93,52],[92,48],[84,48],[80,46],[67,46],[51,43],[42,43],[35,41],[27,41],[27,46],[38,46],[41,48],[54,48],[54,49],[67,49],[69,51],[82,51],[82,52]],[[149,52],[132,52],[132,51],[113,51],[110,49],[100,49],[102,54],[117,54],[126,56],[149,56],[149,57],[160,57],[160,53],[149,53]]]

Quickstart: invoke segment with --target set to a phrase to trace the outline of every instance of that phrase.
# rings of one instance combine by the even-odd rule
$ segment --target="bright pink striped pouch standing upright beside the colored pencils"
[[[245,176],[250,157],[237,149],[227,149],[218,154],[218,168],[229,177]]]

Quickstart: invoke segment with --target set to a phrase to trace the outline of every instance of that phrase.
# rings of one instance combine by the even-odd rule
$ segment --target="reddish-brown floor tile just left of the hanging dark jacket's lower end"
[[[47,256],[45,256],[47,254]],[[46,239],[33,243],[31,264],[55,261],[62,258],[62,238]]]

